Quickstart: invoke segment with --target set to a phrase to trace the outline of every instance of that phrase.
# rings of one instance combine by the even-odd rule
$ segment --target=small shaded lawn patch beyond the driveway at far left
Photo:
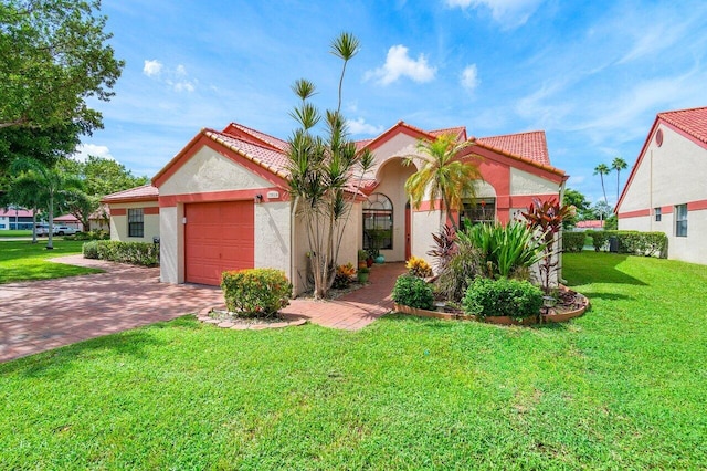
[[[0,241],[0,284],[15,281],[48,280],[99,273],[101,270],[49,262],[46,259],[81,253],[83,242],[55,238],[54,249],[46,250],[46,240]]]

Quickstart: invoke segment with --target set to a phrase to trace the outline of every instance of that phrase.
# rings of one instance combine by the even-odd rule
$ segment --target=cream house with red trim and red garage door
[[[419,153],[421,139],[443,133],[474,144],[460,158],[472,153],[482,157],[484,181],[477,185],[476,200],[454,216],[457,222],[506,223],[535,198],[559,199],[568,177],[551,166],[542,132],[475,138],[465,127],[426,132],[399,122],[357,143],[373,153],[376,165],[365,176],[365,197],[354,202],[339,263],[356,262],[371,228],[389,231],[381,248],[387,261],[411,254],[430,259],[440,212],[429,211],[429,200],[419,210],[410,208],[403,185],[416,169],[403,159]],[[145,218],[149,210],[159,219],[159,230],[150,223],[150,236],[160,237],[162,281],[218,284],[224,270],[270,266],[285,271],[300,293],[309,249],[302,221],[292,213],[286,150],[285,140],[236,123],[220,132],[202,129],[155,176],[154,187],[104,198],[110,206],[112,237],[133,240],[127,211],[143,208]]]

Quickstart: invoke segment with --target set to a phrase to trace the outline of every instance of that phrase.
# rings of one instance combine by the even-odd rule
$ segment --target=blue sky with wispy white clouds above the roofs
[[[105,129],[82,153],[149,177],[202,127],[287,138],[297,78],[336,106],[341,31],[361,42],[344,90],[354,138],[400,119],[478,137],[542,129],[552,165],[593,201],[594,167],[632,166],[656,113],[707,105],[701,0],[104,0],[103,12],[126,67],[116,96],[92,103]]]

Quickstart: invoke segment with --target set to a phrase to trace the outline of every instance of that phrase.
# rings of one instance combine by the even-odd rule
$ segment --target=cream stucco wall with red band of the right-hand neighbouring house
[[[656,134],[663,133],[658,146]],[[707,210],[690,202],[707,200],[707,149],[659,123],[619,207],[619,229],[659,231],[668,238],[668,259],[707,264]],[[677,205],[688,205],[687,237],[675,237]],[[655,220],[661,208],[661,221]],[[630,214],[634,212],[634,214]]]

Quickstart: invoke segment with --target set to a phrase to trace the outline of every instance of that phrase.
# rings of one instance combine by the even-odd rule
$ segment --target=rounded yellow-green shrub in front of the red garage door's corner
[[[223,272],[221,289],[229,311],[244,317],[274,317],[292,295],[285,272],[275,269]]]

